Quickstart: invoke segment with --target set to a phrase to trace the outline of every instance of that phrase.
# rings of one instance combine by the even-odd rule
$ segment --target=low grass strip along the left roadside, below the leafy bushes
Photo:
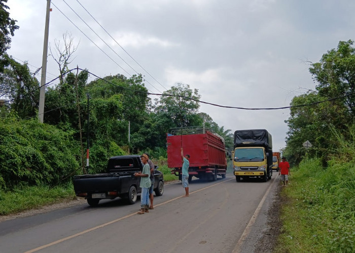
[[[32,186],[0,191],[0,215],[19,213],[24,210],[70,200],[75,197],[72,184],[47,187]]]

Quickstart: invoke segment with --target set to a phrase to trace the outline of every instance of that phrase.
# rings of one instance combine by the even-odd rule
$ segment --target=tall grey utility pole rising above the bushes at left
[[[43,43],[43,57],[42,57],[42,75],[41,75],[41,90],[40,90],[40,104],[38,108],[38,119],[43,123],[43,113],[44,113],[44,100],[46,93],[46,72],[47,72],[47,51],[48,51],[48,33],[49,33],[49,12],[51,11],[51,0],[47,0],[47,11],[46,11],[46,27],[45,27],[45,37]]]

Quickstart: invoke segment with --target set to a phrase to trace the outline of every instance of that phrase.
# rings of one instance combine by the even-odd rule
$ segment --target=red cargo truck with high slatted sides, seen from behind
[[[181,147],[190,155],[189,182],[192,177],[216,181],[226,177],[227,160],[224,139],[201,126],[176,128],[167,134],[168,167],[171,174],[182,177]]]

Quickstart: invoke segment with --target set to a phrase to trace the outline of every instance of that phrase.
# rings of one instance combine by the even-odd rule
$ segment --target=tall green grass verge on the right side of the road
[[[355,252],[355,163],[305,160],[282,188],[274,252]]]

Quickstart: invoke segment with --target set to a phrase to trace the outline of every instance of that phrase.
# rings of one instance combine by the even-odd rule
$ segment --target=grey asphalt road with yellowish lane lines
[[[273,178],[237,183],[195,179],[190,197],[181,182],[167,184],[155,209],[101,200],[0,222],[1,252],[253,252],[266,230]],[[265,194],[265,193],[268,194]]]

